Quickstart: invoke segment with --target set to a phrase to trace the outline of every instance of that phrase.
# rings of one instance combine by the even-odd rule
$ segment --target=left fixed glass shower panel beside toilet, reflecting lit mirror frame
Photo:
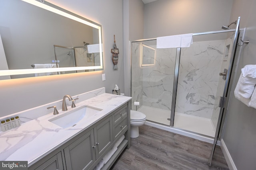
[[[148,121],[170,126],[175,60],[176,48],[156,49],[155,39],[132,42],[132,110]]]

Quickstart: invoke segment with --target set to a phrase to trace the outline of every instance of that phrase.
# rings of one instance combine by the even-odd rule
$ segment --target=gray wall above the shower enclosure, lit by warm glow
[[[158,0],[145,4],[144,38],[220,30],[233,0]]]

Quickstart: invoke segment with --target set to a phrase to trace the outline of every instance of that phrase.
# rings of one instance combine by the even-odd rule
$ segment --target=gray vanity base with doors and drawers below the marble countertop
[[[104,165],[108,170],[118,156],[130,147],[130,101],[66,143],[32,164],[29,170],[92,170],[114,143],[125,134],[112,158]]]

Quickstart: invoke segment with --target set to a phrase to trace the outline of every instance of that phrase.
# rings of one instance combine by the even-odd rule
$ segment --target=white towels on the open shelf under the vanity
[[[115,145],[110,149],[110,151],[108,151],[108,153],[106,153],[106,155],[103,156],[102,160],[100,160],[100,162],[95,166],[94,170],[100,170],[104,166],[104,164],[106,164],[108,160],[110,160],[110,158],[116,152],[118,146],[122,143],[123,140],[124,135],[122,135],[120,139],[118,139],[118,141],[115,143]]]

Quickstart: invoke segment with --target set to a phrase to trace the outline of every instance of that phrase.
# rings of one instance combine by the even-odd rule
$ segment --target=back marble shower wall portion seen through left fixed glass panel
[[[171,110],[175,59],[176,48],[156,49],[155,65],[142,67],[143,106]]]

